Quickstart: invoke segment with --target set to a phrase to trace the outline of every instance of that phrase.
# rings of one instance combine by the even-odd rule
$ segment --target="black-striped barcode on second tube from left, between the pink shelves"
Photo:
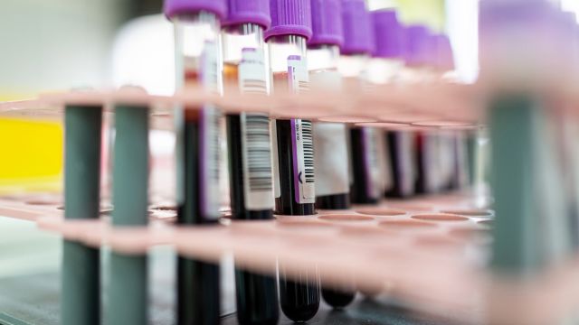
[[[245,136],[249,188],[251,191],[271,192],[270,119],[268,116],[245,115]]]

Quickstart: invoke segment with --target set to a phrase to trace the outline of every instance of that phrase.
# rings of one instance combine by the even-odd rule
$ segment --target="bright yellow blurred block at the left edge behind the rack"
[[[58,190],[62,175],[62,125],[0,118],[0,188]]]

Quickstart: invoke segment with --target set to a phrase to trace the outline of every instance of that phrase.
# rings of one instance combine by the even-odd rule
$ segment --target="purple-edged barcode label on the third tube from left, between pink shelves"
[[[311,121],[292,119],[291,136],[296,201],[298,203],[314,203],[316,201],[316,181]]]

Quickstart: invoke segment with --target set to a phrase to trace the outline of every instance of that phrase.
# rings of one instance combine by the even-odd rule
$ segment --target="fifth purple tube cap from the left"
[[[342,54],[370,54],[374,51],[374,32],[364,0],[342,0],[342,24]]]

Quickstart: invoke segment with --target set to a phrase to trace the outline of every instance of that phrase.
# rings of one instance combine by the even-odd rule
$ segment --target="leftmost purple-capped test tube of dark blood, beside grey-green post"
[[[175,25],[177,90],[199,84],[223,92],[220,21],[226,13],[225,0],[166,0],[165,14]],[[177,224],[218,222],[220,116],[211,105],[176,108]],[[219,265],[177,257],[177,323],[219,323],[219,274]]]

